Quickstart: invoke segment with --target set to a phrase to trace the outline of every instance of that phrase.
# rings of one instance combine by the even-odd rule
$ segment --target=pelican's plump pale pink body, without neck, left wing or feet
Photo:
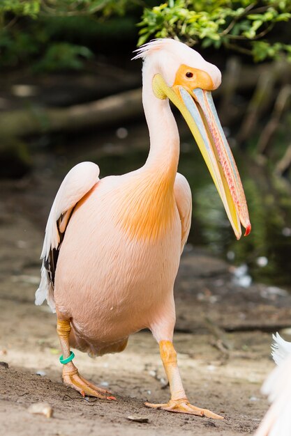
[[[190,217],[190,188],[178,177],[186,187]],[[140,188],[144,203],[151,206],[155,191],[149,180],[153,177],[147,169],[100,180],[78,203],[66,229],[55,277],[55,304],[57,311],[72,320],[77,348],[94,355],[121,350],[130,334],[145,327],[160,340],[172,339],[173,286],[181,254],[181,219],[174,187],[167,203],[155,210],[157,214],[164,207],[172,210],[167,222],[156,224],[161,238],[153,238],[151,226],[148,234],[130,238],[130,233],[139,231],[140,219],[146,227],[152,218],[150,208],[143,208],[140,217],[134,198]],[[136,227],[121,221],[125,206]],[[94,265],[90,274],[87,265]]]

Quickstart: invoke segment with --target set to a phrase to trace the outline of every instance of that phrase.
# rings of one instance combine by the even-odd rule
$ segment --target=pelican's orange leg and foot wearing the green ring
[[[107,400],[115,400],[113,396],[107,396],[110,392],[96,387],[94,384],[85,380],[82,375],[79,374],[77,368],[73,364],[73,355],[70,352],[69,336],[70,336],[70,321],[68,320],[57,320],[57,334],[59,336],[59,342],[61,344],[61,351],[63,355],[61,356],[63,361],[63,382],[66,386],[72,387],[76,391],[80,392],[82,396],[95,396],[97,398],[106,398]],[[70,359],[68,363],[66,360]]]

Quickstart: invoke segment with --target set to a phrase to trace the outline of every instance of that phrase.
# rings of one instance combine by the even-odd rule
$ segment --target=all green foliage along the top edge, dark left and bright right
[[[155,0],[0,0],[0,68],[80,69],[98,40],[133,36],[149,4]],[[290,21],[290,0],[169,0],[144,8],[138,45],[172,37],[234,49],[255,61],[291,61],[290,31],[280,31]]]

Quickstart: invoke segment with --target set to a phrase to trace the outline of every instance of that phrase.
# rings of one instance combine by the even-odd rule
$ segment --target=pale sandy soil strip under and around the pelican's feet
[[[258,335],[260,343],[253,334],[233,336],[237,350],[227,361],[209,345],[209,335],[176,334],[188,396],[196,405],[225,416],[223,421],[213,421],[144,407],[145,400],[166,402],[169,396],[168,388],[162,389],[161,382],[153,376],[154,373],[163,376],[163,368],[150,334],[133,336],[126,351],[118,356],[108,355],[94,361],[77,352],[75,362],[82,375],[101,386],[108,383],[117,396],[117,401],[83,399],[61,384],[61,368],[54,354],[58,347],[54,320],[25,308],[18,319],[20,336],[23,334],[28,340],[21,341],[16,328],[5,348],[7,354],[3,359],[9,368],[2,366],[0,370],[3,435],[68,436],[80,431],[92,436],[179,435],[182,431],[203,436],[249,435],[266,410],[266,401],[260,394],[260,384],[272,366],[266,353],[269,342],[266,334]],[[36,375],[37,371],[46,375]],[[39,401],[52,405],[51,419],[29,414],[29,405]],[[149,422],[128,421],[133,414]]]

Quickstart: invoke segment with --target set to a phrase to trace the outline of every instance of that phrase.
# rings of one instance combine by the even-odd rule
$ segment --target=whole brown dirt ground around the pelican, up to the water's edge
[[[55,316],[48,306],[33,304],[52,189],[52,184],[42,185],[40,180],[38,184],[36,180],[2,184],[1,435],[253,434],[267,410],[260,386],[274,367],[269,357],[270,332],[288,326],[290,296],[262,285],[240,288],[232,280],[229,265],[191,247],[177,279],[174,343],[188,397],[225,419],[213,421],[144,407],[144,401],[161,403],[169,398],[158,345],[149,332],[133,335],[119,355],[91,359],[75,353],[80,373],[110,389],[116,401],[82,398],[64,387]],[[31,212],[32,201],[39,204],[37,214]],[[29,413],[29,406],[40,401],[50,403],[52,418]],[[130,415],[148,422],[130,421]]]

